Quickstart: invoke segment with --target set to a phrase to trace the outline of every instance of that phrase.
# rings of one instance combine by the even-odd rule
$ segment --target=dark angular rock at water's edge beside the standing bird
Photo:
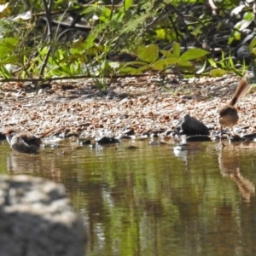
[[[201,121],[186,114],[178,120],[176,130],[186,135],[209,135],[209,129]]]

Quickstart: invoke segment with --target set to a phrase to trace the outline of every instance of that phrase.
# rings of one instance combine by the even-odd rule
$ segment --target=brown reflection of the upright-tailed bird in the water
[[[218,166],[223,177],[230,177],[236,182],[244,201],[249,203],[251,197],[255,195],[255,186],[247,178],[242,177],[239,155],[234,154],[232,150],[220,150]]]

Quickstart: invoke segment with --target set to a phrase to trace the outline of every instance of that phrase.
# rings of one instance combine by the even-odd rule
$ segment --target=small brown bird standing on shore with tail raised
[[[251,86],[247,83],[247,79],[245,77],[241,78],[231,101],[218,111],[218,123],[220,125],[221,132],[223,127],[231,127],[233,130],[233,126],[236,125],[239,119],[237,109],[235,107],[236,102],[238,102],[241,97],[250,90],[250,88]]]

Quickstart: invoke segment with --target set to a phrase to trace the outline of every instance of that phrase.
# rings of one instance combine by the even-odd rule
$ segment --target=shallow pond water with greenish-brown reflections
[[[255,146],[67,141],[26,155],[3,143],[0,173],[64,183],[89,224],[89,256],[254,255]]]

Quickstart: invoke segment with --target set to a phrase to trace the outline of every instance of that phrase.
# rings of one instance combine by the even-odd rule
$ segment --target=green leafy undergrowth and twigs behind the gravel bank
[[[11,71],[13,68],[1,67],[2,77],[49,78],[85,74],[103,78],[170,70],[193,75],[206,73],[212,67],[215,71],[211,74],[215,76],[230,70],[243,72],[237,69],[233,60],[241,44],[245,51],[240,51],[238,59],[243,68],[250,62],[250,55],[256,52],[251,7],[236,7],[233,1],[218,3],[214,9],[205,1],[192,0],[143,0],[138,3],[127,0],[119,5],[73,2],[69,6],[66,2],[49,0],[48,6],[52,5],[49,12],[43,4],[45,0],[34,2],[32,13],[21,2],[15,9],[10,4],[3,5],[2,40],[12,40],[18,35],[22,43],[13,45],[13,52],[4,59],[0,56],[2,65],[20,67],[15,73]],[[23,13],[18,14],[17,9]],[[15,16],[10,19],[11,15]],[[68,23],[69,16],[72,22]],[[85,20],[85,24],[81,20]],[[75,34],[80,38],[73,38]],[[19,61],[9,56],[17,52]],[[121,64],[113,65],[110,57],[113,52],[137,55],[137,60],[118,60]]]

